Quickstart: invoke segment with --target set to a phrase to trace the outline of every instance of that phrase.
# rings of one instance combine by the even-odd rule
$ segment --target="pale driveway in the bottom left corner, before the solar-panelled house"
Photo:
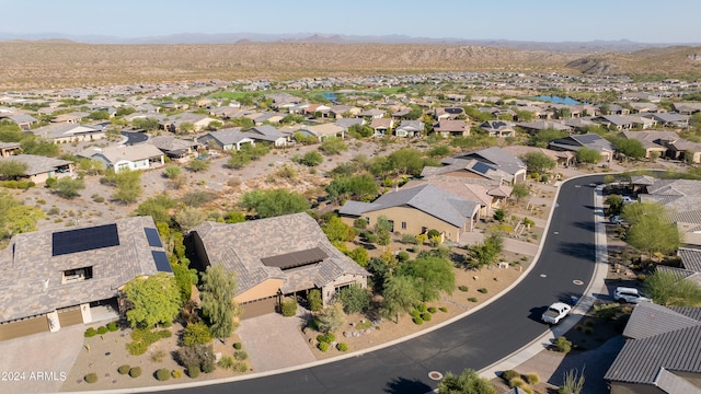
[[[56,393],[82,350],[82,324],[0,341],[0,393]]]

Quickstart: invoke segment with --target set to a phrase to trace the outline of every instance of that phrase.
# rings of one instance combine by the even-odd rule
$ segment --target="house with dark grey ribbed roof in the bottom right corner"
[[[639,303],[604,375],[611,394],[701,392],[701,308]]]

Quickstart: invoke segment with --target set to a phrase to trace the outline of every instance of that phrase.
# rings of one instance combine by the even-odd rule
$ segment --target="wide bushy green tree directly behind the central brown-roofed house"
[[[258,218],[303,212],[309,209],[304,196],[287,189],[252,190],[241,197],[241,206],[255,211]]]

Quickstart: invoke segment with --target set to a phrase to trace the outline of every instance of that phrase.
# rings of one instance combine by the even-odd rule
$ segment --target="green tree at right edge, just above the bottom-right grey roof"
[[[656,304],[665,306],[701,306],[701,286],[663,270],[645,279],[645,292]]]

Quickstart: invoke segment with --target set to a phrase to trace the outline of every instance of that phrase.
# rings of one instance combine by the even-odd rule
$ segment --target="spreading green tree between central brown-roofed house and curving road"
[[[452,265],[440,257],[427,256],[403,263],[397,275],[414,278],[424,302],[439,300],[441,291],[451,294],[456,288]]]

